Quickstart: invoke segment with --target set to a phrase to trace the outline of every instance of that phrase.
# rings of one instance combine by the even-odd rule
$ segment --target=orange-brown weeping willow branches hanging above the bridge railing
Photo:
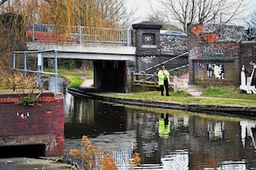
[[[31,2],[28,3],[31,4]],[[37,21],[46,24],[117,27],[121,24],[119,21],[126,17],[122,0],[44,0],[44,2],[37,2],[38,8],[34,8],[38,14]]]

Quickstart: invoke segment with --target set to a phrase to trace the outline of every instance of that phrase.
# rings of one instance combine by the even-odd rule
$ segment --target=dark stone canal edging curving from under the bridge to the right
[[[255,105],[209,105],[209,104],[196,104],[196,103],[178,103],[172,101],[161,101],[154,99],[132,99],[123,97],[113,97],[109,94],[102,93],[95,88],[68,88],[67,92],[71,94],[87,96],[94,99],[100,99],[108,101],[111,103],[121,104],[121,105],[137,105],[137,106],[147,106],[155,107],[161,109],[172,109],[172,110],[183,110],[192,112],[206,112],[225,115],[232,114],[237,116],[256,116],[256,101]],[[197,99],[211,99],[209,97],[198,96]],[[212,98],[218,99],[218,98]],[[243,99],[233,99],[238,101],[243,101]],[[254,101],[253,101],[254,102]]]

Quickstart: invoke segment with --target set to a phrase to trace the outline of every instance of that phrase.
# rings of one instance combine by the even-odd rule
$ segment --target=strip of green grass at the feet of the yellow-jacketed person
[[[211,92],[212,91],[212,92]],[[232,93],[233,92],[233,93]],[[166,101],[177,102],[181,104],[205,104],[205,105],[256,105],[256,95],[241,94],[237,98],[235,91],[226,91],[221,89],[207,89],[207,95],[203,94],[204,98],[192,97],[183,92],[171,93],[170,97],[160,96],[160,92],[140,92],[133,94],[103,94],[110,97],[122,99],[143,99],[144,101]],[[210,97],[211,94],[211,97]],[[215,94],[215,95],[214,95]],[[228,98],[227,98],[228,97]]]

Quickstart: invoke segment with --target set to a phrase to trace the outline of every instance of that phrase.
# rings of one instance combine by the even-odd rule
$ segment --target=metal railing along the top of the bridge
[[[87,26],[62,26],[58,31],[55,31],[54,25],[32,24],[26,26],[26,39],[27,41],[38,42],[61,41],[79,44],[131,46],[131,28],[113,29]]]

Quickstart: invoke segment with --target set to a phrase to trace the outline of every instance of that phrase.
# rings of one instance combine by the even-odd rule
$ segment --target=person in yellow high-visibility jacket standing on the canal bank
[[[169,94],[169,84],[170,84],[170,73],[166,71],[165,65],[160,66],[160,71],[158,71],[158,84],[160,85],[161,95],[164,95],[164,91],[166,88],[166,96],[170,96]]]

